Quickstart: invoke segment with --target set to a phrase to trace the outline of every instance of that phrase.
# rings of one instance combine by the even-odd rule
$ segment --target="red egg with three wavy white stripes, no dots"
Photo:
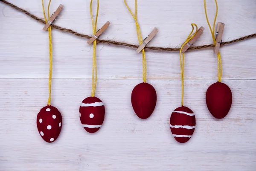
[[[195,130],[195,114],[186,106],[178,107],[172,112],[170,128],[177,142],[189,141]]]

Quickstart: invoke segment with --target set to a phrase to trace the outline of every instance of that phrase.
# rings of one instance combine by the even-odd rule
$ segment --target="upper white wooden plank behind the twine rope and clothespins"
[[[56,5],[58,6],[59,3],[56,2]],[[212,43],[209,28],[201,12],[197,10],[195,12],[194,8],[184,7],[185,12],[180,14],[180,9],[177,6],[183,6],[186,3],[185,0],[168,1],[166,5],[160,5],[160,8],[162,6],[163,8],[170,7],[161,11],[161,15],[166,16],[166,20],[160,20],[159,16],[153,16],[153,13],[148,14],[148,9],[159,6],[159,2],[148,0],[147,3],[138,3],[140,9],[140,12],[138,9],[138,17],[142,36],[146,37],[151,29],[156,26],[161,31],[157,34],[157,38],[151,40],[152,46],[179,47],[180,43],[184,41],[184,36],[190,32],[191,26],[189,26],[189,23],[192,21],[187,16],[192,13],[193,18],[197,18],[196,23],[205,28],[205,33],[200,37],[200,41],[196,41],[194,45]],[[189,3],[193,3],[193,6],[202,9],[202,3],[199,1],[192,0]],[[232,2],[224,0],[218,3],[219,6],[225,6],[225,4]],[[23,9],[29,9],[36,16],[42,17],[41,1],[24,1],[21,3],[15,1],[15,4]],[[91,35],[90,9],[89,7],[85,8],[85,2],[78,0],[74,4],[71,1],[65,1],[63,4],[68,8],[58,18],[58,25]],[[254,4],[254,0],[247,0],[242,7],[236,6],[234,8],[239,8],[239,11],[240,9],[241,11],[248,11],[248,9],[254,7],[252,4]],[[124,6],[123,1],[116,3],[100,2],[100,6],[104,6],[101,12],[106,15],[99,16],[99,23],[111,19],[113,24],[111,29],[107,29],[101,35],[102,39],[113,39],[128,43],[138,42],[134,19],[128,12],[124,12],[126,9],[116,8],[116,6]],[[207,6],[209,9],[215,9],[215,3],[207,4]],[[0,3],[0,9],[3,8],[3,13],[0,12],[0,77],[47,78],[49,74],[49,38],[41,30],[43,25]],[[56,6],[52,4],[50,11],[54,11],[55,8]],[[153,11],[155,10],[154,8]],[[219,12],[221,12],[221,9]],[[173,14],[179,14],[179,17],[175,17]],[[252,13],[248,16],[247,13],[237,13],[235,10],[225,15],[220,13],[218,17],[223,17],[221,20],[229,25],[225,27],[223,41],[251,34],[254,32],[253,28],[256,28]],[[234,20],[230,20],[230,18]],[[248,27],[244,29],[232,27],[237,25],[235,18],[240,18],[241,22],[239,20],[239,23]],[[180,22],[181,19],[183,22]],[[52,40],[53,78],[91,78],[93,49],[87,46],[87,39],[53,29]],[[250,39],[221,48],[223,78],[256,79],[256,60],[253,56],[253,54],[256,54],[255,42],[255,39]],[[186,78],[218,78],[218,59],[212,53],[212,49],[196,50],[186,54]],[[96,58],[99,78],[141,78],[142,57],[141,54],[134,53],[134,51],[135,49],[131,48],[97,44]],[[178,53],[147,51],[147,77],[180,78]]]

